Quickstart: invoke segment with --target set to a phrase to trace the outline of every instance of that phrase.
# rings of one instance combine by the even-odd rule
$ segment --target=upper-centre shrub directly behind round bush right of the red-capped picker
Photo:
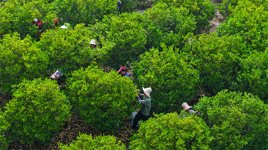
[[[157,3],[147,9],[141,16],[146,31],[146,48],[160,47],[164,42],[167,46],[183,47],[183,36],[193,32],[195,20],[193,15],[183,7],[170,7],[165,3]]]

